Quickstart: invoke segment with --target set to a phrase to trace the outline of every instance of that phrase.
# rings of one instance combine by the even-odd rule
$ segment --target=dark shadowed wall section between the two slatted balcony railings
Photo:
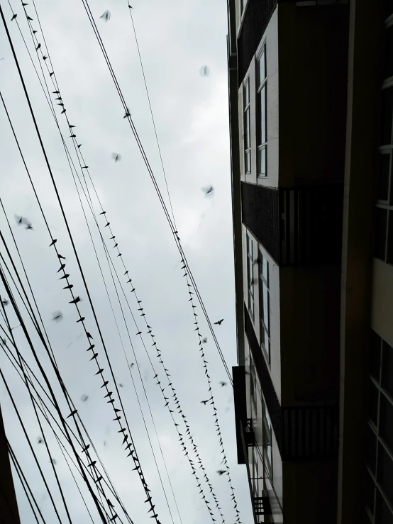
[[[338,401],[340,267],[284,267],[280,281],[282,406]]]

